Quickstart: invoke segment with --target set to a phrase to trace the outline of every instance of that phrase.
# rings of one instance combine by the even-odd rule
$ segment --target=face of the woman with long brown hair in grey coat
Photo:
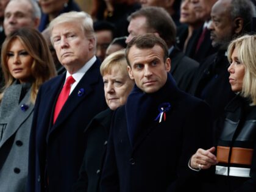
[[[7,50],[7,65],[10,74],[20,83],[29,82],[32,78],[31,66],[33,57],[24,48],[18,38],[12,40]]]

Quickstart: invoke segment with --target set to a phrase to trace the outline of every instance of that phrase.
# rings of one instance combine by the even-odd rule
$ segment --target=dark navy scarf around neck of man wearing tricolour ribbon
[[[141,128],[154,122],[160,114],[159,106],[167,103],[171,94],[176,91],[176,83],[169,73],[165,85],[155,93],[144,93],[137,85],[134,86],[125,106],[127,132],[132,145]],[[172,104],[170,105],[172,106]]]

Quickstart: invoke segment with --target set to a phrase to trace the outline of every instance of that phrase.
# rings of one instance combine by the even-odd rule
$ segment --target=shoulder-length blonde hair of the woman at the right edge
[[[251,105],[256,105],[256,35],[243,35],[231,41],[227,49],[229,61],[234,49],[245,66],[241,95],[251,99]]]

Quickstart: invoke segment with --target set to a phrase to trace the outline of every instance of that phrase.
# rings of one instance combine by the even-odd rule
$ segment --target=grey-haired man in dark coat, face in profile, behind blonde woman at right
[[[218,52],[208,56],[194,73],[190,93],[210,105],[216,120],[235,96],[229,84],[227,46],[251,30],[255,7],[250,0],[222,0],[213,5],[211,15],[212,45]]]

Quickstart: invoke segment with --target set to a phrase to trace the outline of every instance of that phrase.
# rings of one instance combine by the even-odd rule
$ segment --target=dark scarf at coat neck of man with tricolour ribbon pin
[[[158,121],[154,121],[154,119],[160,113],[158,111],[160,105],[164,103],[171,105],[168,112],[166,112],[166,115],[169,115],[173,106],[179,104],[177,102],[179,93],[180,91],[170,74],[168,74],[164,87],[154,94],[144,94],[136,86],[133,88],[125,105],[127,131],[133,149],[137,148],[149,132],[159,126]],[[149,127],[149,129],[141,129],[141,127]]]

